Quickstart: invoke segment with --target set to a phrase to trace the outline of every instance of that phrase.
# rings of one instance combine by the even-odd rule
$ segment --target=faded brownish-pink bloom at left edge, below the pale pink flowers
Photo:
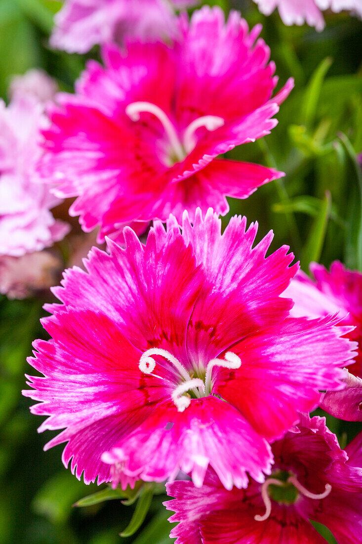
[[[0,293],[9,299],[24,299],[48,289],[58,279],[61,263],[49,251],[36,251],[22,257],[0,256]]]

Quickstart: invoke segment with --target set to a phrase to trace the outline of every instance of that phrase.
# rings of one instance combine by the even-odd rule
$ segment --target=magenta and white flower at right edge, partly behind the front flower
[[[315,281],[299,272],[283,295],[295,302],[291,315],[316,318],[338,313],[341,324],[353,325],[348,337],[359,348],[348,370],[362,378],[362,273],[348,270],[339,261],[332,263],[329,272],[316,263],[310,265],[310,271]]]

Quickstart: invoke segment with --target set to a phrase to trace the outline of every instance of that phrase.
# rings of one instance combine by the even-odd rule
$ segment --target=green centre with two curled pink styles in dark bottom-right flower
[[[328,497],[332,486],[326,484],[323,493],[311,493],[306,489],[295,476],[290,476],[288,472],[280,471],[276,478],[267,478],[261,486],[261,498],[265,504],[265,514],[254,516],[255,521],[265,521],[269,518],[272,509],[271,498],[277,503],[293,504],[296,502],[299,494],[309,499],[320,500]]]

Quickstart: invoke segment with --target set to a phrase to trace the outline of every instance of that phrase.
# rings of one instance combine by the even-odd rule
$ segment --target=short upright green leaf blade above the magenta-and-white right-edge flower
[[[322,203],[320,214],[317,215],[311,226],[307,243],[304,245],[302,251],[301,267],[303,270],[308,270],[311,261],[319,261],[320,259],[330,216],[330,208],[330,194],[326,191],[326,197]]]

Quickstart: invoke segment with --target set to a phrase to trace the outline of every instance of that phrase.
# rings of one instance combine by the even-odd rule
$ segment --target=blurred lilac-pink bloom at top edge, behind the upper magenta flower
[[[68,53],[86,53],[93,45],[125,38],[150,40],[177,35],[174,7],[192,0],[66,0],[54,17],[50,43]]]

